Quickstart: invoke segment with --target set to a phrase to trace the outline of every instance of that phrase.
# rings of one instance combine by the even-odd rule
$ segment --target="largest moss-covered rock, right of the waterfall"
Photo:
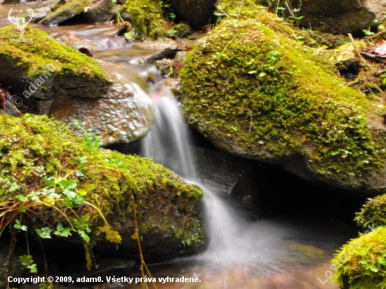
[[[219,149],[300,177],[385,189],[382,103],[345,86],[295,30],[253,1],[222,11],[228,16],[189,51],[181,72],[189,124]]]

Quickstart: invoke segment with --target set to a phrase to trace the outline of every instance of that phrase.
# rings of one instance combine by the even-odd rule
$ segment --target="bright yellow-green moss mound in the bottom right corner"
[[[386,288],[386,228],[354,238],[332,263],[337,269],[333,280],[341,288]]]

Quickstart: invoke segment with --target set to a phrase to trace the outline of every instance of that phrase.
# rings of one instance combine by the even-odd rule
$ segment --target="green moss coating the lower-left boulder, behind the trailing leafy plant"
[[[197,205],[201,190],[170,170],[139,156],[93,147],[47,116],[22,119],[3,114],[0,121],[1,202],[44,189],[50,177],[76,180],[77,189],[87,191],[85,200],[98,206],[115,228],[127,224],[133,228],[133,196],[142,236],[163,234],[159,236],[181,245],[200,241],[203,232],[197,222]],[[86,213],[84,206],[75,210],[79,215]],[[49,227],[65,223],[55,212],[36,206],[36,213]],[[101,224],[98,212],[87,213],[91,227]]]

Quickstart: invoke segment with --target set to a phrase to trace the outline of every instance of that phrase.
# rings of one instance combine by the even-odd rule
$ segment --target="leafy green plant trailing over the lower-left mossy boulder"
[[[72,177],[74,175],[69,174],[45,177],[43,180],[46,187],[43,189],[31,191],[27,195],[16,195],[13,199],[0,203],[0,234],[8,226],[11,226],[11,231],[29,231],[42,239],[52,238],[53,235],[67,238],[76,233],[90,247],[91,228],[88,226],[87,212],[96,210],[103,221],[97,228],[97,235],[103,231],[107,241],[121,243],[119,233],[112,229],[96,206],[84,200],[87,191],[77,189],[77,180]],[[52,213],[48,209],[57,213],[55,222],[50,220],[49,215]],[[88,269],[91,269],[93,264],[90,250],[86,250],[86,260]],[[31,273],[37,272],[36,264],[29,253],[20,256],[20,261]]]

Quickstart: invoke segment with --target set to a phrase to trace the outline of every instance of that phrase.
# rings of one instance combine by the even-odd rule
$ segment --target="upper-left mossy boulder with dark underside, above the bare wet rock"
[[[60,95],[98,98],[113,81],[100,63],[27,26],[22,39],[15,25],[0,29],[0,79],[24,98]],[[21,40],[21,41],[20,41]]]

